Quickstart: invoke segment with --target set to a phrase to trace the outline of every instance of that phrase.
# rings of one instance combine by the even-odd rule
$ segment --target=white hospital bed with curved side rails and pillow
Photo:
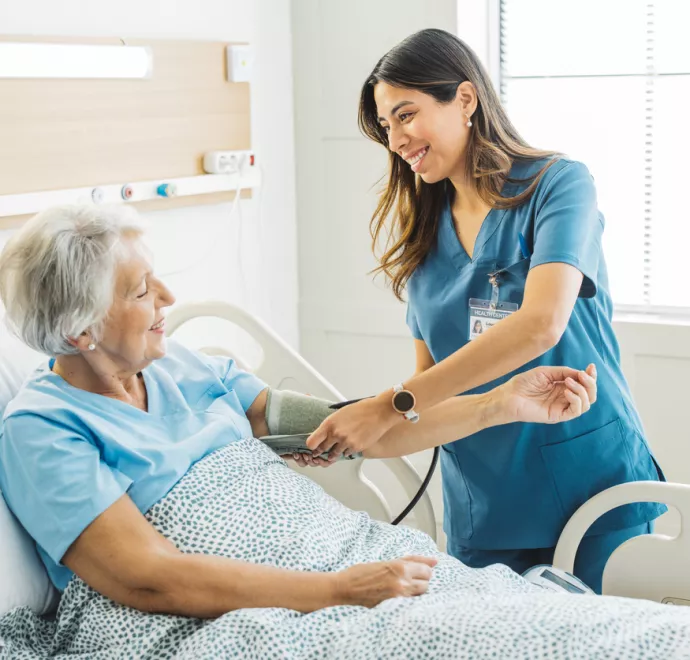
[[[206,302],[181,305],[167,318],[169,335],[188,321],[217,317],[241,328],[261,348],[254,364],[260,378],[275,388],[300,389],[332,400],[344,397],[270,328],[246,311],[227,303]],[[241,354],[227,346],[198,347],[206,353],[233,357],[248,366]],[[0,412],[19,389],[22,381],[43,356],[0,329]],[[343,461],[327,469],[298,468],[347,506],[368,512],[373,518],[393,519],[383,484],[375,484],[365,474],[366,460]],[[419,490],[420,475],[406,458],[386,459],[408,499]],[[390,480],[388,480],[390,481]],[[675,507],[681,515],[681,532],[676,537],[649,535],[630,539],[618,548],[604,573],[604,593],[647,598],[658,602],[690,605],[690,486],[639,482],[616,486],[600,493],[578,510],[563,531],[554,564],[572,571],[577,547],[589,526],[606,511],[636,501],[658,501]],[[436,517],[428,493],[424,493],[413,514],[405,520],[432,538],[436,537]],[[57,594],[43,569],[33,542],[13,518],[0,497],[0,616],[13,607],[26,605],[39,613],[50,613]]]

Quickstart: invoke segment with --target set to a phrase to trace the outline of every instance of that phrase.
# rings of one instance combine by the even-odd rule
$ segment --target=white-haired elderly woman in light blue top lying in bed
[[[419,595],[438,561],[462,567],[419,532],[345,509],[255,439],[269,433],[268,388],[232,360],[166,342],[175,299],[131,209],[40,213],[0,257],[0,294],[16,333],[52,356],[5,413],[0,487],[59,590],[76,582],[198,618],[306,613]],[[367,456],[567,421],[595,397],[593,374],[540,368],[417,424],[392,409],[401,423]]]

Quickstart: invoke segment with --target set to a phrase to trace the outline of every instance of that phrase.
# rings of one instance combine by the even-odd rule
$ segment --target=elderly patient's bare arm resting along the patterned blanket
[[[249,607],[312,612],[373,607],[424,593],[435,560],[408,557],[308,573],[180,552],[123,495],[89,525],[62,563],[108,598],[146,612],[199,618]]]

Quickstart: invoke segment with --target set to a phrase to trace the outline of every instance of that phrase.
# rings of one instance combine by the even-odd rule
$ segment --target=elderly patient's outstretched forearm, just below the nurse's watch
[[[489,426],[507,424],[500,394],[488,392],[447,399],[425,411],[416,424],[400,422],[364,451],[366,458],[392,458],[465,438]]]

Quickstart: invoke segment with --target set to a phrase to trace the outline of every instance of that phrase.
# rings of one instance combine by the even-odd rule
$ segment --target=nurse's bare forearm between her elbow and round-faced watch
[[[519,369],[558,342],[547,323],[520,310],[445,360],[405,381],[418,412]],[[573,365],[576,366],[576,365]],[[379,395],[390,407],[390,391]],[[428,413],[426,413],[428,414]]]

